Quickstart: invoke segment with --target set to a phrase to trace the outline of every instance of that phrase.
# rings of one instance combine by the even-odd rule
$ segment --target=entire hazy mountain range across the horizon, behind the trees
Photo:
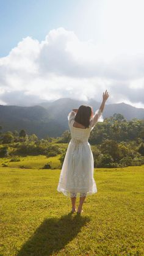
[[[96,111],[101,103],[93,98],[87,102],[60,98],[29,107],[0,105],[0,126],[2,132],[24,129],[27,134],[35,133],[39,138],[59,137],[63,131],[68,130],[68,113],[81,104],[92,106],[93,111]],[[143,108],[134,108],[125,103],[106,104],[103,117],[110,117],[115,113],[122,114],[127,120],[144,119]]]

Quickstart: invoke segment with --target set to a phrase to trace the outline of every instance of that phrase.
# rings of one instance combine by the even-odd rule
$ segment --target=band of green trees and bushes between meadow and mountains
[[[60,137],[46,136],[39,139],[36,134],[26,130],[2,133],[0,126],[0,157],[18,161],[18,156],[59,155],[62,167],[63,159],[71,140],[70,130]],[[128,121],[121,114],[113,114],[96,123],[90,133],[94,167],[126,167],[144,164],[144,120]],[[17,159],[17,160],[16,160]]]

